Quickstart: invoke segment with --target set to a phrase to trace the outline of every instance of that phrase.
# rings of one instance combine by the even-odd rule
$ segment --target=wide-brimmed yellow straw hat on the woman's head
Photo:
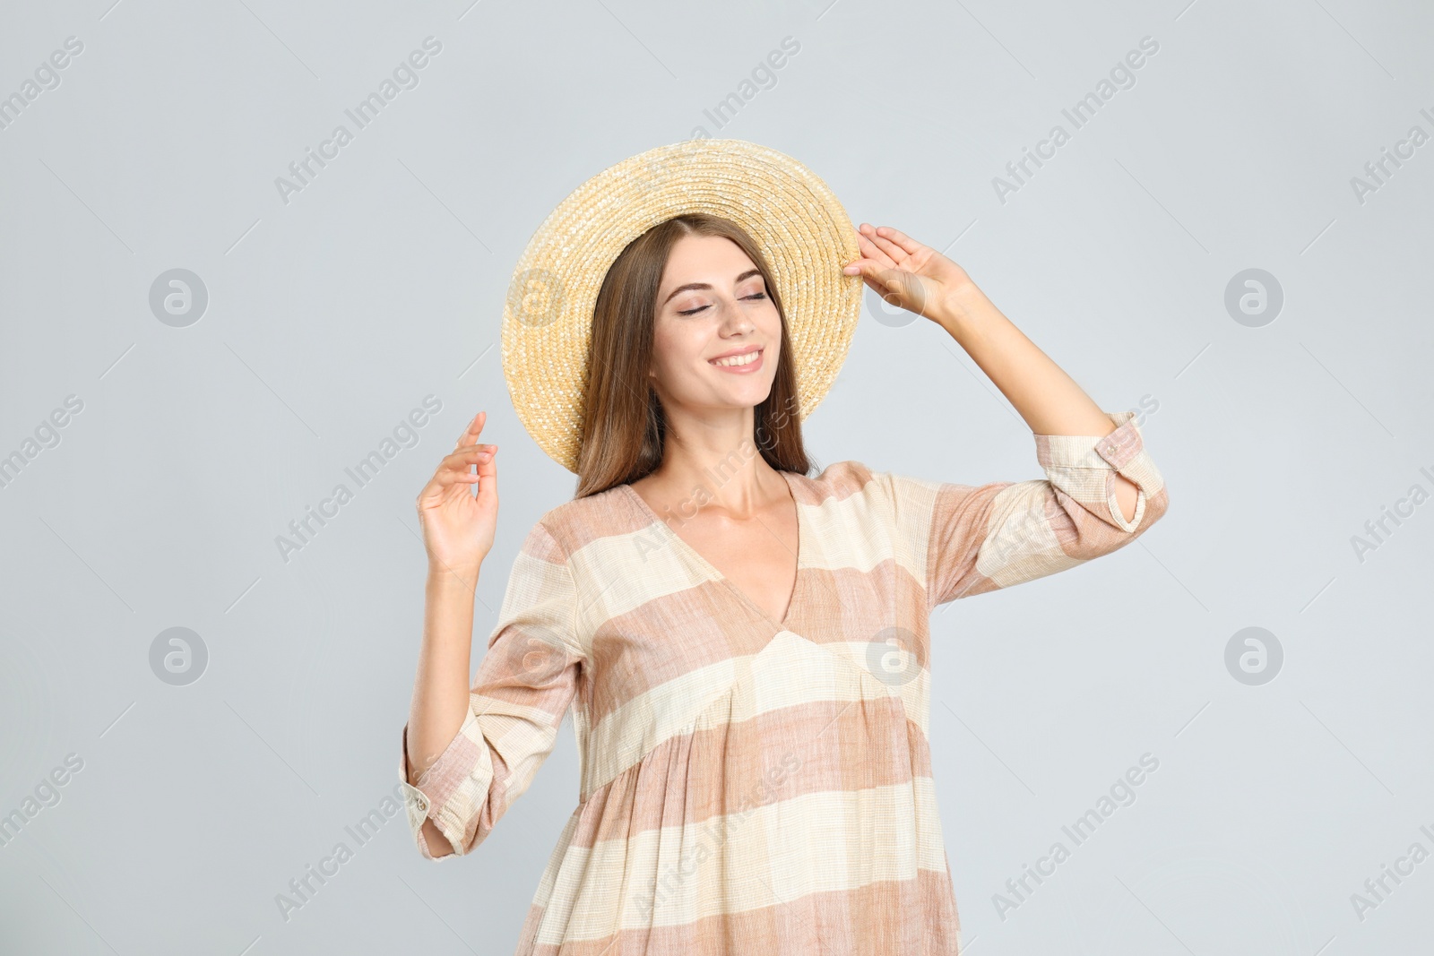
[[[548,214],[503,304],[503,376],[528,434],[578,470],[598,290],[632,239],[684,212],[731,219],[761,248],[787,314],[804,420],[846,358],[862,308],[856,228],[822,179],[741,139],[690,139],[608,166]]]

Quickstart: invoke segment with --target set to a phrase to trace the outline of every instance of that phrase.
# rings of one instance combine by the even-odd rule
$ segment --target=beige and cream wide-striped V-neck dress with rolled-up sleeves
[[[782,621],[631,484],[549,510],[513,562],[457,735],[416,787],[400,752],[419,851],[482,843],[571,708],[581,793],[519,956],[958,953],[931,612],[1107,555],[1164,513],[1133,413],[1106,414],[1119,427],[1104,437],[1034,436],[1043,480],[782,472],[799,526]],[[1129,522],[1117,470],[1140,489]],[[424,818],[453,854],[432,856]]]

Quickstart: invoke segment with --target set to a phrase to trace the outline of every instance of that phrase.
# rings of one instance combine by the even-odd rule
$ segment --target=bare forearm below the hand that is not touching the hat
[[[429,570],[423,601],[423,646],[419,649],[413,702],[409,707],[409,783],[447,748],[469,709],[473,645],[473,588],[478,569],[455,575]]]

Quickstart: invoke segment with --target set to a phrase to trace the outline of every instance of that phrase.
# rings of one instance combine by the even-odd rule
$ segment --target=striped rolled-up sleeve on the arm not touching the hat
[[[416,784],[409,783],[403,725],[399,781],[426,859],[446,860],[482,843],[552,752],[584,668],[575,591],[566,555],[539,522],[513,559],[463,724]],[[452,854],[433,854],[424,820],[433,820]]]

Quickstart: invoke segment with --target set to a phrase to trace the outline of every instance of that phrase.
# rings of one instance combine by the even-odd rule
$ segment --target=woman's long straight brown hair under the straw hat
[[[767,295],[782,318],[777,373],[754,413],[753,444],[779,472],[806,474],[812,464],[802,444],[796,364],[782,295],[766,257],[747,231],[730,219],[693,212],[661,222],[632,242],[612,262],[592,315],[588,381],[584,390],[578,451],[578,490],[587,497],[635,482],[663,463],[667,416],[647,371],[652,363],[657,292],[667,258],[684,235],[717,235],[747,254],[767,284]],[[730,459],[739,464],[733,450]]]

